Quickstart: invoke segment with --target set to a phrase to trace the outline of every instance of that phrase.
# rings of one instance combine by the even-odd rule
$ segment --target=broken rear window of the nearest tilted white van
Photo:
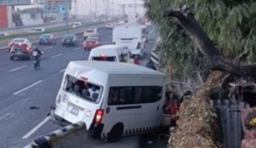
[[[84,100],[96,102],[102,96],[103,87],[67,75],[64,91],[83,98]]]

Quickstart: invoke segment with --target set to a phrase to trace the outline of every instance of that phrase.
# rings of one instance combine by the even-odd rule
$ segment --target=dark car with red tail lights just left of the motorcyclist
[[[10,50],[10,59],[31,60],[32,49],[27,44],[14,44]]]

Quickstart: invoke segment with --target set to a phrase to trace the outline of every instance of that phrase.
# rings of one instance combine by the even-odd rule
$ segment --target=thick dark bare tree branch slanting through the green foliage
[[[208,37],[207,33],[193,17],[193,13],[189,11],[187,6],[181,10],[169,10],[163,13],[163,17],[175,17],[178,24],[188,32],[189,37],[193,40],[203,57],[206,58],[208,67],[211,70],[230,72],[238,76],[256,76],[256,65],[242,65],[223,54],[215,47],[213,41]]]

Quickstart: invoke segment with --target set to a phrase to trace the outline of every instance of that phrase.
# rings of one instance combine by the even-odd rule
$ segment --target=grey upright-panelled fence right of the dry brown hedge
[[[241,111],[249,105],[242,101],[216,100],[213,106],[221,127],[223,148],[240,148],[243,140]]]

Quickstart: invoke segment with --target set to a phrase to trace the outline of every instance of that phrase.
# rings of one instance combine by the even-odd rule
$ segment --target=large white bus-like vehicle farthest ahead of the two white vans
[[[147,48],[146,27],[138,23],[113,27],[113,44],[126,45],[133,55],[143,56]]]

